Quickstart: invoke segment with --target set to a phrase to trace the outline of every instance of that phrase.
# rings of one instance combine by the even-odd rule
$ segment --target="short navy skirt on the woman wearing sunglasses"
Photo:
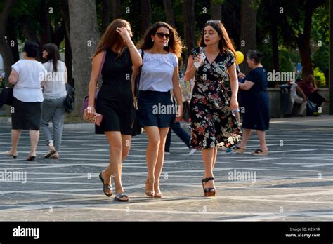
[[[152,90],[140,90],[138,95],[138,124],[141,127],[170,127],[176,118],[176,107],[171,100],[171,93]]]

